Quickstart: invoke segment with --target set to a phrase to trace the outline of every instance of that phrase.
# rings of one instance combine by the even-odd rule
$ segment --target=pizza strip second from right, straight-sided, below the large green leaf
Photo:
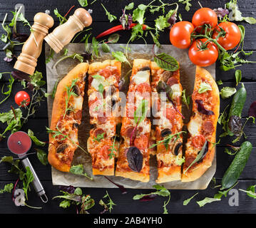
[[[164,71],[152,62],[151,75],[151,88],[154,94],[152,113],[158,162],[156,182],[180,180],[183,163],[183,88],[180,84],[180,71]],[[166,95],[169,90],[170,95]],[[164,96],[161,92],[164,92]]]

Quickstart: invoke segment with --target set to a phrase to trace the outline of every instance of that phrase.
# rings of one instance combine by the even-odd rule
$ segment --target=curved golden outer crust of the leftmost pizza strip
[[[58,120],[60,120],[63,111],[65,110],[66,86],[71,86],[73,79],[84,78],[88,71],[88,63],[79,63],[73,68],[61,81],[58,83],[55,97],[53,100],[53,108],[51,113],[51,130],[56,130]],[[78,137],[78,135],[76,135]],[[49,134],[49,147],[48,147],[48,162],[62,172],[69,172],[71,164],[66,164],[58,159],[56,147],[53,145],[55,139]],[[74,152],[74,150],[73,150]],[[73,157],[73,155],[72,155]]]

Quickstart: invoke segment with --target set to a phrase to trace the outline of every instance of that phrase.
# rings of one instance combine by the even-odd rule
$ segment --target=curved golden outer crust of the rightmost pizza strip
[[[208,168],[212,166],[213,159],[215,157],[215,145],[213,143],[216,142],[217,119],[219,118],[219,115],[220,115],[220,93],[219,93],[217,84],[215,82],[215,79],[213,78],[213,76],[210,75],[210,73],[207,70],[205,70],[205,68],[201,68],[199,66],[196,67],[195,80],[197,80],[197,78],[207,80],[208,82],[210,82],[210,85],[212,87],[213,108],[211,110],[213,110],[214,115],[211,120],[214,126],[214,130],[213,130],[213,133],[210,135],[210,140],[208,140],[209,141],[208,152],[203,158],[203,161],[201,161],[197,165],[193,165],[185,173],[184,173],[185,167],[183,167],[183,175],[181,179],[182,182],[192,182],[200,178],[208,170]],[[195,108],[196,108],[196,105],[193,100],[193,110]]]

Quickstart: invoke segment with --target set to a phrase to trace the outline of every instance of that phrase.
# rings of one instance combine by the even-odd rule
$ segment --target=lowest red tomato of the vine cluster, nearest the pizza
[[[202,48],[200,48],[200,46]],[[210,66],[217,61],[217,46],[206,38],[193,41],[188,51],[190,61],[197,66]]]

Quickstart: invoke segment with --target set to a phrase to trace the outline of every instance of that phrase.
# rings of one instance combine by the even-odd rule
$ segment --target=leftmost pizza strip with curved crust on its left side
[[[85,77],[88,63],[80,63],[59,83],[53,100],[49,130],[48,162],[57,170],[69,172],[79,145]]]

